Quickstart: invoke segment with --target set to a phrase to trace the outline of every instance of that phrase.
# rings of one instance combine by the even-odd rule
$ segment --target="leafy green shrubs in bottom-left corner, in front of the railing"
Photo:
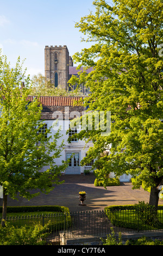
[[[45,245],[47,229],[48,225],[17,228],[5,223],[5,227],[0,226],[0,245]]]

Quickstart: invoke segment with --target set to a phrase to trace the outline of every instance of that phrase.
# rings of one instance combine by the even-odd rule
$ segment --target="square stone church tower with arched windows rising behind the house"
[[[73,66],[72,58],[69,56],[67,46],[45,46],[45,78],[50,80],[55,87],[59,84],[67,89],[69,66]]]

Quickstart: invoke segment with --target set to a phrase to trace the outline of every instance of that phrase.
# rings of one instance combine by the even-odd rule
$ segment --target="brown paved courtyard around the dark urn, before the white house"
[[[12,205],[61,205],[67,206],[70,211],[104,210],[109,205],[136,204],[139,201],[149,202],[149,193],[140,190],[133,190],[132,184],[125,182],[121,186],[95,187],[94,175],[62,175],[60,180],[64,184],[55,186],[48,195],[41,194],[28,201],[24,198],[17,200],[8,199],[8,206]],[[80,206],[79,191],[85,191],[86,206]],[[0,199],[2,205],[3,199]],[[163,200],[159,199],[159,204]]]

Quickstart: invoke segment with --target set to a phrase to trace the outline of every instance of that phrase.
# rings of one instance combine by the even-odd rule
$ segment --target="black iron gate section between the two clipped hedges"
[[[69,218],[69,221],[68,221]],[[81,211],[65,214],[65,223],[55,228],[49,241],[64,245],[66,239],[81,237],[103,237],[111,233],[112,225],[105,211]],[[53,237],[52,237],[53,236]]]

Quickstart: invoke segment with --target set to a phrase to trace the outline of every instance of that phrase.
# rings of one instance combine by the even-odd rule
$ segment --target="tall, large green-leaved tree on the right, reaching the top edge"
[[[107,179],[110,172],[131,174],[133,188],[140,188],[142,181],[151,187],[149,204],[157,206],[163,179],[163,3],[113,2],[111,6],[96,0],[95,13],[76,23],[87,36],[83,40],[92,41],[90,48],[73,56],[74,62],[93,66],[78,81],[90,87],[85,105],[89,104],[89,111],[111,111],[109,136],[88,128],[78,134],[94,143],[82,164],[96,156],[93,167],[99,178]],[[76,80],[72,77],[69,82]]]

